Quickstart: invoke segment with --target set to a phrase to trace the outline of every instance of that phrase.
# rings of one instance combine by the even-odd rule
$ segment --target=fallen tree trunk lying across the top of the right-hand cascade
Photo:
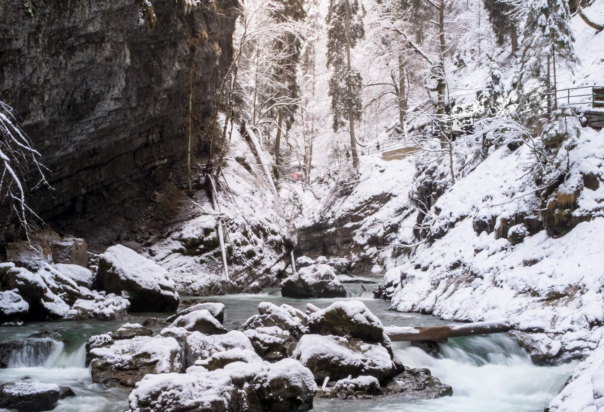
[[[460,325],[431,326],[429,328],[387,326],[384,328],[384,332],[393,342],[411,342],[494,334],[496,332],[507,332],[510,329],[512,328],[509,322],[474,322]]]

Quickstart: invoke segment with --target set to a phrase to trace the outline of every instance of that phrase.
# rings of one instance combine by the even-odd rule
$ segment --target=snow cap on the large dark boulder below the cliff
[[[100,259],[111,264],[122,280],[133,281],[165,296],[178,297],[178,293],[173,292],[176,285],[164,268],[126,246],[111,246],[100,255]]]

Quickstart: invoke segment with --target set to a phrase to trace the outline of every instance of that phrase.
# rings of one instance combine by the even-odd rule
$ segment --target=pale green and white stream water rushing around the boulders
[[[370,280],[370,279],[366,279]],[[365,284],[367,289],[371,285]],[[400,313],[388,310],[389,303],[372,299],[370,292],[359,284],[347,284],[348,297],[344,300],[362,300],[382,320],[384,325],[435,326],[451,323],[430,315]],[[183,297],[182,299],[184,299]],[[306,303],[324,308],[342,299],[292,299],[282,297],[280,290],[268,289],[261,294],[214,296],[208,302],[225,305],[227,329],[240,326],[251,315],[257,314],[260,302],[275,305],[288,303],[306,309]],[[164,319],[170,314],[131,314],[131,319],[115,322],[35,322],[13,328],[0,327],[0,340],[24,339],[42,330],[59,329],[64,342],[53,343],[47,357],[36,359],[28,349],[13,353],[8,369],[0,369],[0,384],[18,380],[40,381],[71,387],[75,398],[59,401],[54,411],[61,412],[121,412],[127,409],[126,391],[94,384],[90,369],[85,367],[84,343],[91,335],[115,331],[123,323],[143,322],[147,317]],[[161,328],[154,328],[159,331]],[[395,343],[396,358],[408,367],[428,367],[432,375],[453,387],[454,396],[423,400],[376,398],[363,401],[315,399],[316,411],[489,411],[541,412],[561,390],[573,364],[558,367],[533,365],[521,347],[504,334],[455,338],[441,345],[442,355],[433,358],[423,350],[405,343]]]

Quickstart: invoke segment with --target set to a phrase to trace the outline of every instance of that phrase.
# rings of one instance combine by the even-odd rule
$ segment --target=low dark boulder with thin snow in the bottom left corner
[[[8,382],[0,386],[0,408],[50,411],[59,402],[59,386],[42,382]]]

